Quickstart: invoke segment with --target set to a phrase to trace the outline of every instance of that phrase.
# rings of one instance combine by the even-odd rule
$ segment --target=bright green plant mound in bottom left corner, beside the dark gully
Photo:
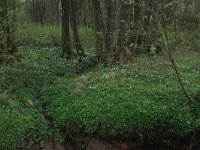
[[[17,149],[47,134],[47,122],[35,109],[24,108],[8,94],[0,94],[0,149]],[[25,141],[26,140],[26,141]]]

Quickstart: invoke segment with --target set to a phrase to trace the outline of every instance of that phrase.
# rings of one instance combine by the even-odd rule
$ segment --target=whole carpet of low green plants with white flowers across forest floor
[[[0,65],[0,149],[41,146],[51,136],[66,142],[73,135],[124,139],[131,134],[151,143],[199,133],[198,52],[174,53],[195,99],[190,106],[165,56],[112,67],[85,61],[77,73],[76,60],[66,61],[61,53],[21,47],[20,62]]]

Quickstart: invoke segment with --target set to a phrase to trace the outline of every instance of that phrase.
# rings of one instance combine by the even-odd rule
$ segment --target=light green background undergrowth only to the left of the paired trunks
[[[60,26],[40,26],[20,24],[16,31],[18,45],[59,46],[61,45]]]

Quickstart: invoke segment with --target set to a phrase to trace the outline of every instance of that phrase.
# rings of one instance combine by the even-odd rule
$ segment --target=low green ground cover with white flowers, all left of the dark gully
[[[20,142],[31,144],[48,135],[40,97],[59,74],[70,76],[73,67],[60,58],[59,49],[20,48],[19,55],[21,62],[0,65],[0,149],[17,149]]]

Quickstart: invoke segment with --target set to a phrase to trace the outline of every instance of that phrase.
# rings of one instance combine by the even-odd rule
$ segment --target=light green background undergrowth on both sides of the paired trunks
[[[72,31],[71,35],[72,34]],[[33,45],[39,47],[61,46],[61,26],[19,24],[16,33],[18,45]],[[79,27],[80,40],[85,49],[94,47],[94,30],[87,27]],[[73,36],[72,36],[73,39]]]

